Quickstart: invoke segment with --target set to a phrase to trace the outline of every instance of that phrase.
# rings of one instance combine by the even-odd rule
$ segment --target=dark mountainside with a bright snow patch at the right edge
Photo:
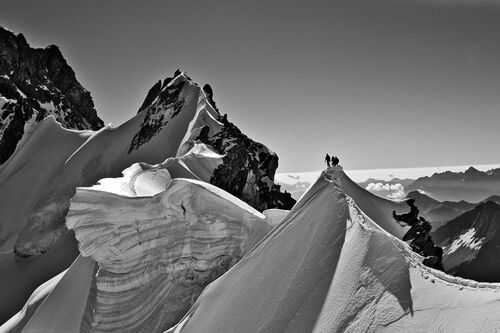
[[[454,275],[500,282],[500,205],[486,201],[433,232],[444,249],[443,265]]]

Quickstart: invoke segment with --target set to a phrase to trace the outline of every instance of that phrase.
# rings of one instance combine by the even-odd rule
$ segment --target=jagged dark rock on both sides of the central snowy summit
[[[184,72],[177,70],[173,77],[158,81],[148,92],[139,113],[144,121],[134,137],[130,152],[148,142],[174,117],[177,117],[198,94],[197,116],[188,129],[186,139],[179,147],[178,157],[184,156],[198,144],[209,146],[223,156],[222,163],[213,171],[210,183],[241,198],[252,207],[263,211],[270,208],[291,209],[295,200],[290,193],[281,192],[274,183],[278,156],[263,144],[248,138],[222,115],[214,101],[210,85],[200,88]],[[201,120],[203,119],[203,120]]]

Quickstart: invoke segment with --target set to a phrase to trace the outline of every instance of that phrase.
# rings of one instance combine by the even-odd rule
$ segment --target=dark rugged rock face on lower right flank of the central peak
[[[274,183],[278,156],[264,145],[248,138],[227,117],[221,116],[224,127],[212,136],[204,131],[198,138],[224,154],[223,163],[214,171],[210,182],[241,198],[257,210],[269,208],[291,209],[295,199],[288,192],[281,192]],[[246,191],[244,191],[246,189]],[[252,189],[251,191],[248,191]]]

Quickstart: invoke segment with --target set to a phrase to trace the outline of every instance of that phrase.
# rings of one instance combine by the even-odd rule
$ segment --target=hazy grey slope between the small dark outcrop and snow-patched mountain
[[[420,214],[429,222],[432,222],[434,230],[477,205],[464,200],[458,202],[441,202],[418,191],[410,192],[406,197],[415,199],[415,204],[420,209]]]

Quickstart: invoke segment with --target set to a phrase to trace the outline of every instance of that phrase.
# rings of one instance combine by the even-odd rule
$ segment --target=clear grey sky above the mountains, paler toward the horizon
[[[119,125],[177,68],[279,172],[499,163],[500,2],[3,0]]]

